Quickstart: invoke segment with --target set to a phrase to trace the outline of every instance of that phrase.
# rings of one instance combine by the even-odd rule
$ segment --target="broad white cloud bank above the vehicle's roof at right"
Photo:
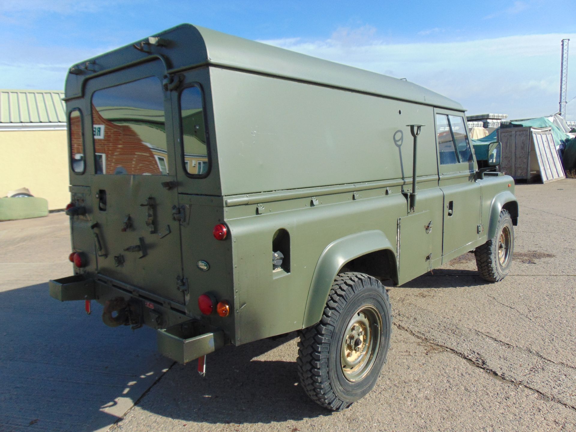
[[[346,36],[350,34],[354,33],[345,33]],[[511,118],[526,118],[558,110],[560,40],[566,37],[576,39],[576,34],[509,36],[445,43],[398,44],[362,40],[350,44],[350,39],[343,43],[334,37],[315,41],[293,38],[264,42],[407,78],[457,100],[469,114],[502,112]],[[576,94],[576,85],[571,88],[569,97]],[[576,105],[576,101],[572,104]],[[574,111],[567,112],[576,120]]]

